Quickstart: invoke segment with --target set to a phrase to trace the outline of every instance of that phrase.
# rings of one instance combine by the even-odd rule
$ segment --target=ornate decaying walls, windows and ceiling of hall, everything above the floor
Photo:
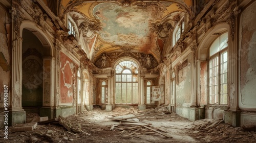
[[[254,0],[0,2],[0,121],[166,106],[256,125]],[[3,122],[0,127],[4,128]]]

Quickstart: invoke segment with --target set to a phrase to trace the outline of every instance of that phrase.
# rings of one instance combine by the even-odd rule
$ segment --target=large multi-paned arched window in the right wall
[[[208,97],[209,104],[227,104],[227,41],[228,34],[216,34],[209,48]]]

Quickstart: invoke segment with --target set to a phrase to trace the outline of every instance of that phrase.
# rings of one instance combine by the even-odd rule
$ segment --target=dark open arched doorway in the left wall
[[[22,37],[22,107],[26,112],[51,118],[51,111],[40,111],[42,106],[51,106],[50,46],[38,31],[30,28],[23,29]]]

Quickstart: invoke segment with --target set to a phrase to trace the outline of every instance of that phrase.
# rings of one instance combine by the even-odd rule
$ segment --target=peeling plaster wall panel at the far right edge
[[[256,2],[241,14],[240,28],[240,96],[241,109],[256,108]]]

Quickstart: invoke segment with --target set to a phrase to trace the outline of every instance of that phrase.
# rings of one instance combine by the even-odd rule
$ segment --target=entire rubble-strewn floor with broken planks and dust
[[[14,132],[11,130],[13,127],[9,127],[8,139],[0,139],[0,142],[256,141],[256,132],[250,131],[252,127],[234,128],[224,124],[222,120],[211,119],[191,122],[168,112],[166,107],[144,111],[117,107],[111,112],[95,107],[92,111],[60,117],[60,121],[59,118],[54,118],[38,122],[32,131]],[[78,132],[74,132],[76,130],[72,128]],[[249,131],[245,131],[246,129]],[[0,138],[3,138],[3,130],[0,130],[0,134]]]

